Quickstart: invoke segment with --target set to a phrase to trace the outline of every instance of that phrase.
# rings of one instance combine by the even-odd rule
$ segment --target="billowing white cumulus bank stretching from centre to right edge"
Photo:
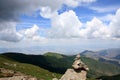
[[[66,11],[51,18],[52,28],[48,31],[48,36],[51,38],[86,39],[120,38],[120,9],[116,11],[115,15],[109,17],[110,24],[105,24],[97,17],[83,24],[74,11]]]

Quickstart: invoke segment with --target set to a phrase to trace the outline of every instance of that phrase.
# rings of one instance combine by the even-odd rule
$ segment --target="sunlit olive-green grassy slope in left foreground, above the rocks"
[[[61,77],[60,74],[49,72],[48,70],[32,64],[17,62],[3,55],[0,55],[0,68],[14,70],[15,72],[18,71],[23,74],[31,75],[33,77],[37,77],[38,79],[43,80],[51,80],[54,77]]]

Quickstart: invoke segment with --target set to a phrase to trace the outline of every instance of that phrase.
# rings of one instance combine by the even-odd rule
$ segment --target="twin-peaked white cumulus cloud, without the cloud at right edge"
[[[73,10],[66,11],[51,18],[52,28],[47,35],[50,38],[109,38],[109,28],[98,18],[84,24]]]

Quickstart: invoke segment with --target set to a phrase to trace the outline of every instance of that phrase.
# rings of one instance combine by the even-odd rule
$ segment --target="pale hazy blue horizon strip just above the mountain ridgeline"
[[[47,48],[47,46],[44,47],[26,47],[26,48],[0,48],[0,54],[1,53],[6,53],[6,52],[13,52],[13,53],[23,53],[23,54],[34,54],[34,55],[42,55],[47,52],[55,52],[59,54],[64,54],[64,55],[76,55],[79,54],[85,50],[89,51],[101,51],[101,50],[111,50],[111,49],[120,49],[120,48],[101,48],[101,49],[82,49],[79,47],[74,47],[74,48]]]

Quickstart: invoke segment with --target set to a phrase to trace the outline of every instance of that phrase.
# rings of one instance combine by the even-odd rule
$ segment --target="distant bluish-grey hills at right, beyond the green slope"
[[[120,48],[100,51],[85,50],[80,54],[89,58],[93,58],[95,60],[109,62],[120,66]]]

